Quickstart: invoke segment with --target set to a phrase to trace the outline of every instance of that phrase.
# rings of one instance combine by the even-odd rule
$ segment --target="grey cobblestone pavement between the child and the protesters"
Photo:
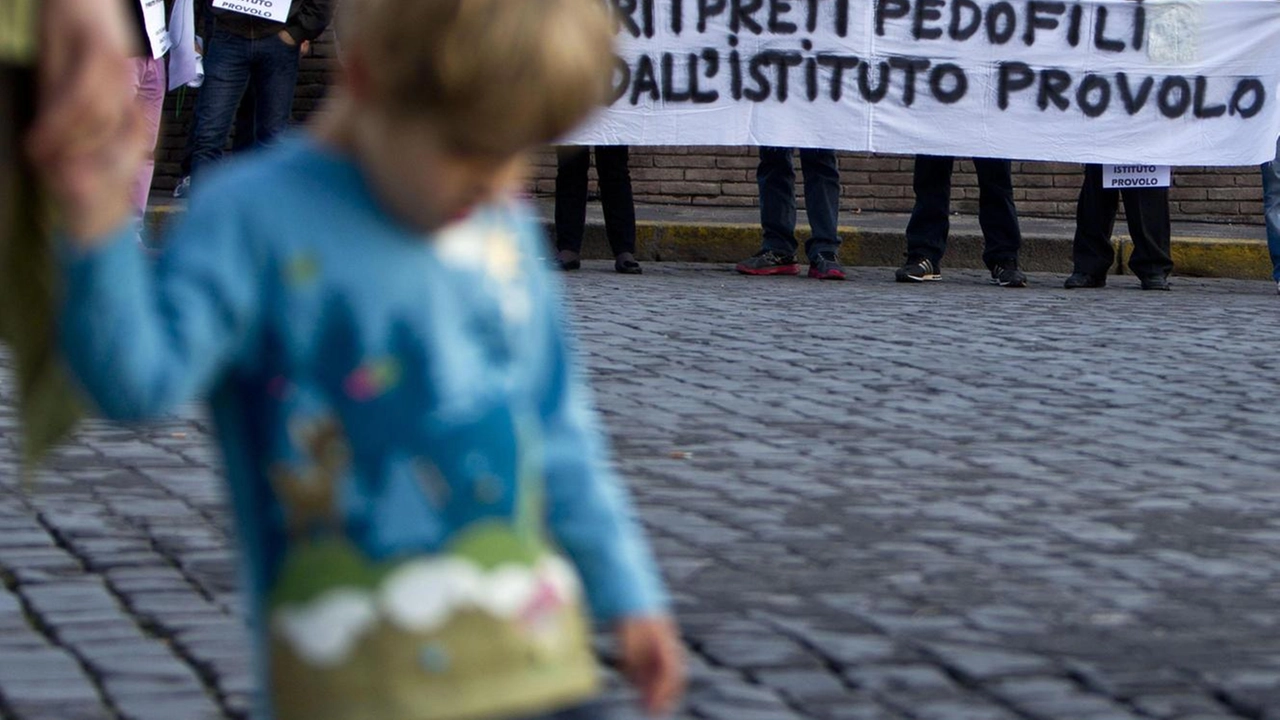
[[[684,715],[1280,719],[1274,286],[888,277],[567,278]],[[0,715],[243,716],[197,416],[91,424],[23,493],[0,396]]]

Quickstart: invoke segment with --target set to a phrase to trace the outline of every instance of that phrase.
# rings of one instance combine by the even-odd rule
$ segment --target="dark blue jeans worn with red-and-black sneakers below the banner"
[[[764,249],[782,255],[795,255],[796,242],[796,172],[791,164],[791,147],[760,147],[760,164],[755,183],[760,188],[760,228]],[[836,151],[818,147],[800,149],[800,170],[804,173],[804,204],[809,215],[809,241],[805,255],[813,260],[819,252],[836,252],[840,214],[840,168]]]

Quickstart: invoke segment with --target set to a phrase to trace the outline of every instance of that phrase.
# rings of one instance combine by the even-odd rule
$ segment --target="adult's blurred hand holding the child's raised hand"
[[[92,154],[132,122],[131,45],[120,3],[44,0],[38,102],[27,138],[37,163]]]

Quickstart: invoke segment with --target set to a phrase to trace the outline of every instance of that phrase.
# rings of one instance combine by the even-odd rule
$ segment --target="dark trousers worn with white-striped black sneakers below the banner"
[[[1023,233],[1014,208],[1014,178],[1009,160],[974,158],[978,173],[978,224],[982,227],[982,261],[988,268],[1018,260]],[[925,258],[942,266],[951,231],[951,170],[955,158],[916,155],[915,208],[906,223],[908,258]]]

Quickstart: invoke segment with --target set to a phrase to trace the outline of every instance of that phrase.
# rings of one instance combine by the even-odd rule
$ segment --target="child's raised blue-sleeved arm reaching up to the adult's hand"
[[[228,205],[193,199],[159,266],[138,247],[132,222],[67,240],[59,338],[109,418],[143,419],[195,398],[248,337],[261,263]]]

